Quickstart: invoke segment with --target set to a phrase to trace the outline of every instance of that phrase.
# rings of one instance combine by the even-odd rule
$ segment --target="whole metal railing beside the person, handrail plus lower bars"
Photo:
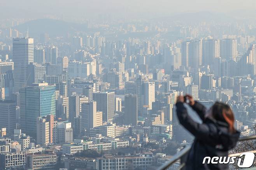
[[[238,141],[249,141],[252,139],[256,139],[256,135],[240,137]],[[186,158],[188,156],[188,152],[190,149],[191,149],[191,145],[187,145],[186,147],[184,147],[184,149],[182,149],[177,154],[175,154],[169,161],[167,161],[165,164],[161,165],[161,167],[159,167],[158,170],[168,170],[178,160],[181,160],[181,164],[179,165],[179,167],[177,167],[175,169],[177,169],[177,170],[185,169]],[[236,154],[240,155],[240,153],[236,153]],[[231,155],[233,155],[233,154],[231,154]]]

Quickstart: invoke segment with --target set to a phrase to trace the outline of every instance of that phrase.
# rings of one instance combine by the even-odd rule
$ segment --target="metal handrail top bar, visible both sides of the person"
[[[248,140],[251,140],[251,139],[256,139],[256,135],[240,137],[238,139],[238,141],[248,141]],[[190,149],[191,149],[191,145],[187,145],[186,147],[184,147],[184,149],[182,149],[181,151],[176,153],[169,161],[167,161],[165,164],[161,165],[158,168],[158,170],[165,170],[165,169],[167,169],[170,165],[172,165],[177,160],[179,160],[182,156],[184,156],[186,153],[188,153],[188,151]]]

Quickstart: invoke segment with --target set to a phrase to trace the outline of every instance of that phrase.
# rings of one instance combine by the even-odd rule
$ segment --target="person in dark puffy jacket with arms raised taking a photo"
[[[196,111],[202,123],[197,123],[188,115],[185,102]],[[191,95],[186,95],[178,96],[176,111],[181,125],[195,136],[186,160],[186,170],[229,169],[229,164],[208,164],[207,161],[203,164],[203,159],[206,156],[227,157],[228,150],[236,146],[240,132],[234,128],[234,114],[230,106],[215,102],[207,111],[202,104],[194,101]]]

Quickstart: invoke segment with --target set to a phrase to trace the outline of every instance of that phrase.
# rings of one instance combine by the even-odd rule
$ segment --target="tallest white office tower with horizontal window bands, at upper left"
[[[33,38],[13,38],[12,56],[14,62],[14,88],[16,91],[27,85],[27,66],[34,60]]]

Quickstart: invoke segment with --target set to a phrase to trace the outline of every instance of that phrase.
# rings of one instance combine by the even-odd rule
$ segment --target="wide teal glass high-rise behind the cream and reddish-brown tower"
[[[55,86],[48,83],[33,83],[32,86],[21,88],[21,129],[26,134],[36,137],[37,118],[55,115]]]

